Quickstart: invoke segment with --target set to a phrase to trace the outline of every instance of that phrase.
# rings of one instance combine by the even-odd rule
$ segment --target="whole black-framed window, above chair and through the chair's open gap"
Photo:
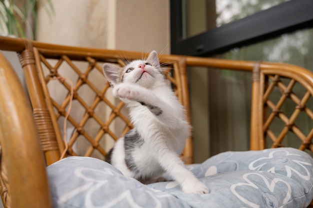
[[[171,0],[170,11],[172,54],[285,62],[313,71],[312,0]],[[227,150],[247,150],[250,74],[203,69],[188,73],[191,116],[196,114],[192,123],[203,123],[195,121],[200,115],[196,108],[208,117],[208,131],[193,126],[195,149],[202,151],[194,151],[195,162]],[[199,86],[206,89],[199,92]],[[202,157],[203,141],[196,140],[206,133],[208,154]]]

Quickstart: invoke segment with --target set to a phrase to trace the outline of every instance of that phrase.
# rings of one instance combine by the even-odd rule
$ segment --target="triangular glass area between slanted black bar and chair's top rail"
[[[313,28],[298,30],[218,55],[226,59],[295,64],[313,71]]]

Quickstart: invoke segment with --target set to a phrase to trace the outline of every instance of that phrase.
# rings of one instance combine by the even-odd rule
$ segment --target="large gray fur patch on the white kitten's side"
[[[136,147],[141,147],[143,145],[143,140],[138,134],[136,129],[129,130],[124,136],[124,150],[125,150],[125,163],[127,168],[135,173],[139,170],[134,163],[132,153]]]

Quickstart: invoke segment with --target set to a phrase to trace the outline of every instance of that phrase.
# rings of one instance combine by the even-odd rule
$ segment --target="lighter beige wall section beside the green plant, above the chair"
[[[42,6],[38,9],[37,40],[65,45],[106,47],[108,0],[52,2],[55,14],[51,17]]]

